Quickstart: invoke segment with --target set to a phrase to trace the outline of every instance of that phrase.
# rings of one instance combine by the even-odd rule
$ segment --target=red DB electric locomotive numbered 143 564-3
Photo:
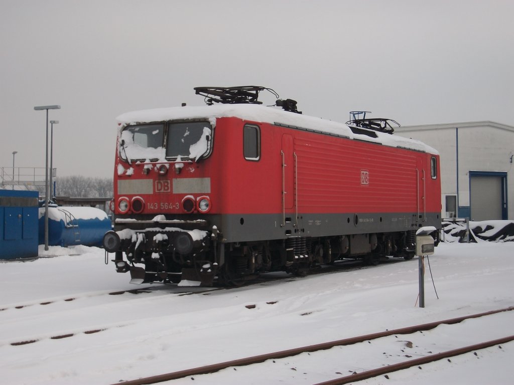
[[[237,284],[346,258],[410,259],[416,230],[440,228],[437,151],[365,113],[343,124],[290,99],[262,106],[264,89],[197,87],[208,105],[118,117],[115,228],[103,244],[131,282]]]

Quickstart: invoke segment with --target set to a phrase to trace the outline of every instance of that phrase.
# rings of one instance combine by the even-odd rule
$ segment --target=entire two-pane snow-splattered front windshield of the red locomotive
[[[166,148],[164,138],[166,137]],[[128,162],[205,158],[211,151],[209,122],[168,122],[128,126],[121,132],[120,157]]]

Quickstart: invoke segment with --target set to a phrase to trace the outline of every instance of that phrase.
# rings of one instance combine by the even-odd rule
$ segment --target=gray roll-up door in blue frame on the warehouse
[[[502,219],[502,177],[473,176],[471,181],[471,219]]]

